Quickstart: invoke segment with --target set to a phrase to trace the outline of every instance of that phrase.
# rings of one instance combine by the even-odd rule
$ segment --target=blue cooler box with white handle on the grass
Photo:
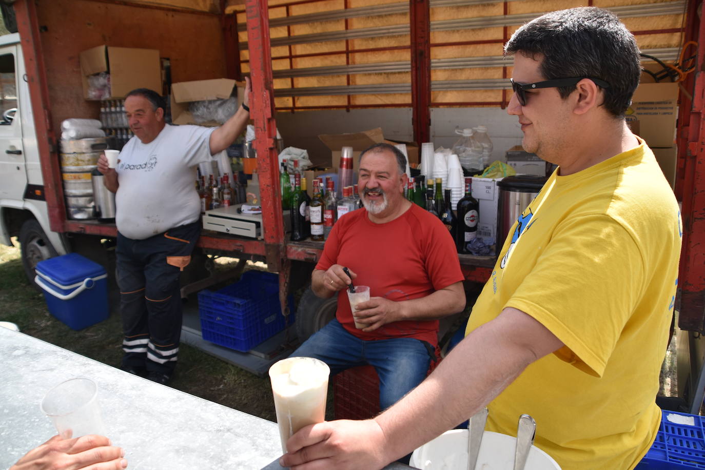
[[[108,318],[108,274],[80,254],[37,263],[35,282],[44,291],[49,313],[73,330]]]

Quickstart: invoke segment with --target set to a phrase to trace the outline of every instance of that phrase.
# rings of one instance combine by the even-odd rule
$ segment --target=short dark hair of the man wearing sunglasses
[[[634,36],[602,8],[553,11],[529,21],[505,44],[505,54],[517,51],[530,58],[543,55],[540,70],[546,80],[591,77],[608,82],[603,106],[615,117],[627,111],[642,73]],[[559,87],[560,97],[568,98],[575,88]]]

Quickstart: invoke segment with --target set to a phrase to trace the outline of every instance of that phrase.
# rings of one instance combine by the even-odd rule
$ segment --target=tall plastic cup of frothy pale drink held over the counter
[[[324,361],[312,357],[289,357],[269,368],[282,452],[286,453],[286,441],[301,428],[326,418],[330,374]]]

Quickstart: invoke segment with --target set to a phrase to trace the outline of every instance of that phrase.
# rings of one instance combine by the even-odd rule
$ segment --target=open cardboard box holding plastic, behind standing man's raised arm
[[[238,106],[245,97],[245,82],[235,82],[229,78],[213,80],[195,80],[193,82],[178,82],[171,85],[171,122],[174,124],[196,124],[188,111],[191,101],[209,101],[212,99],[228,99],[233,93],[233,87],[238,85]],[[199,125],[218,126],[220,123],[200,123]]]

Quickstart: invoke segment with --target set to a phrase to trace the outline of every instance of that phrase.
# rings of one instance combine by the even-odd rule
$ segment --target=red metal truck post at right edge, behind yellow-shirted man
[[[695,21],[696,3],[689,16]],[[697,68],[682,179],[682,252],[680,257],[680,316],[678,326],[705,333],[705,22],[698,25]],[[682,94],[681,94],[682,95]]]

